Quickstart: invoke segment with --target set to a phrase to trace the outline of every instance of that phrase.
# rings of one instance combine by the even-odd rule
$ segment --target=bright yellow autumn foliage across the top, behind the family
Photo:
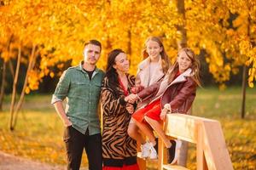
[[[7,2],[7,1],[5,1]],[[44,76],[54,77],[51,69],[63,68],[61,62],[72,59],[72,65],[83,59],[83,43],[89,39],[102,42],[102,57],[97,66],[104,69],[108,52],[122,48],[129,54],[131,73],[136,74],[142,61],[143,42],[148,36],[162,37],[170,59],[177,55],[178,27],[183,26],[189,48],[207,52],[209,71],[219,83],[230,79],[238,66],[256,65],[256,4],[253,0],[201,1],[184,0],[185,14],[177,11],[177,1],[160,0],[56,0],[8,1],[0,7],[0,52],[7,61],[17,57],[22,44],[22,61],[31,55],[36,44],[40,62],[30,75],[29,88],[37,89]],[[230,26],[230,13],[237,14]],[[13,41],[7,44],[10,37]],[[255,45],[254,45],[255,46]],[[228,62],[228,63],[226,63]],[[256,75],[248,72],[249,78]],[[32,80],[34,79],[34,80]],[[248,79],[252,84],[255,78]],[[252,85],[250,85],[252,87]]]

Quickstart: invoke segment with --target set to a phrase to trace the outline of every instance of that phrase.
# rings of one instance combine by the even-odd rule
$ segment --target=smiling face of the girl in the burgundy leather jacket
[[[182,51],[178,54],[177,65],[179,72],[183,73],[192,65],[192,60],[189,59],[189,56],[184,51]]]

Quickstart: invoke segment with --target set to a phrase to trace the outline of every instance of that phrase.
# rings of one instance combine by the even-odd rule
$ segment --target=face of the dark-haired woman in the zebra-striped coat
[[[120,53],[114,59],[115,64],[113,68],[118,72],[126,73],[129,71],[129,60],[126,57],[126,54]]]

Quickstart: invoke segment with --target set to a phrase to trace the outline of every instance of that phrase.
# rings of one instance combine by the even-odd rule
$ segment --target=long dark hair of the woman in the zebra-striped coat
[[[113,94],[116,98],[119,98],[119,91],[117,90],[117,86],[119,84],[119,80],[118,80],[118,73],[115,70],[115,68],[113,68],[113,65],[115,64],[115,58],[121,54],[125,52],[122,49],[113,49],[109,54],[108,54],[108,61],[107,61],[107,70],[106,70],[106,75],[105,77],[108,77],[108,83],[109,83],[109,87],[113,89]]]

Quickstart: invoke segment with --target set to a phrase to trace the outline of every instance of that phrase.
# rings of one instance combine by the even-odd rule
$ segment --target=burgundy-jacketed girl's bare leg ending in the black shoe
[[[159,135],[159,137],[164,141],[166,144],[166,148],[170,148],[172,143],[170,142],[170,139],[166,137],[166,134],[164,133],[162,126],[160,125],[160,122],[155,121],[154,119],[151,119],[148,116],[144,116],[144,119],[148,124],[153,127],[154,131]]]

